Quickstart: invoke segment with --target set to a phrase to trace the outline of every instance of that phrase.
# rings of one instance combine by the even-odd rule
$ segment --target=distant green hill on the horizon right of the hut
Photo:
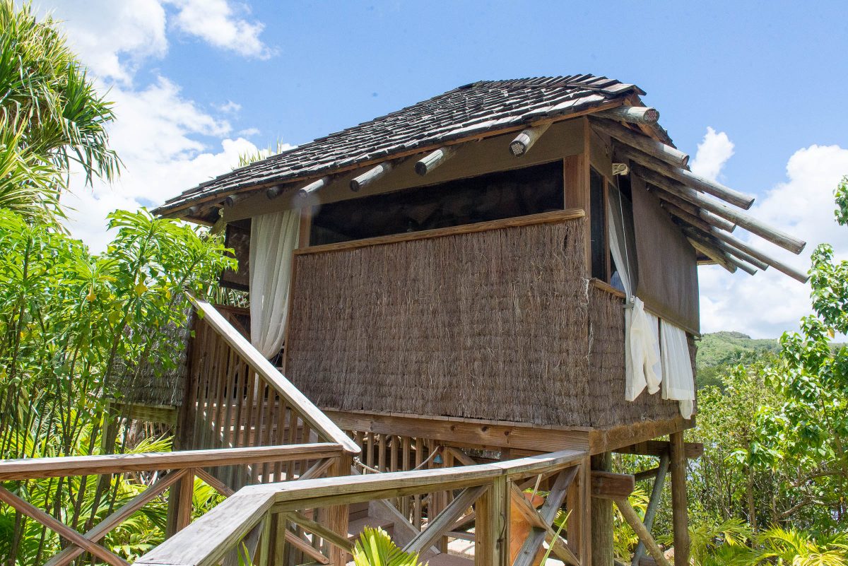
[[[754,339],[741,332],[712,332],[701,336],[695,363],[699,387],[719,385],[718,375],[728,365],[734,365],[764,352],[778,352],[777,338]]]

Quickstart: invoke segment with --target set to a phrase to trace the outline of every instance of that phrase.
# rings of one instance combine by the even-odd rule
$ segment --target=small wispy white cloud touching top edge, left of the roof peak
[[[239,18],[227,0],[167,1],[178,8],[174,21],[181,31],[245,57],[266,59],[275,53],[259,39],[265,25]]]

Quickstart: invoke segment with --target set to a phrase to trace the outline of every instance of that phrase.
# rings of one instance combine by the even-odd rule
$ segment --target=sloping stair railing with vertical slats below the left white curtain
[[[335,442],[350,454],[360,448],[250,345],[209,302],[192,297],[198,311],[181,414],[182,441],[191,447],[227,448]],[[308,462],[264,463],[220,469],[233,490],[248,484],[293,480]],[[245,473],[249,472],[248,475]]]

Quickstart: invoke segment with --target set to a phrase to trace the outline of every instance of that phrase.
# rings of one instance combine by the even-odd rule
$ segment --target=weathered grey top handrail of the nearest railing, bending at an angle
[[[470,486],[547,474],[585,462],[588,451],[562,450],[506,462],[461,468],[421,469],[388,474],[348,475],[316,480],[247,486],[209,513],[154,548],[137,564],[212,566],[268,513],[288,513],[350,502]]]

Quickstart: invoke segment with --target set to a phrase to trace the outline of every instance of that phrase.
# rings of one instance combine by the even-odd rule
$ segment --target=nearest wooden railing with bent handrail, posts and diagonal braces
[[[537,511],[527,503],[522,490],[528,486],[532,488],[538,479],[544,478],[552,480],[550,494]],[[455,491],[455,497],[438,515],[428,519],[427,528],[420,530],[405,545],[407,551],[423,554],[433,552],[433,545],[453,525],[473,520],[476,564],[530,564],[547,540],[554,546],[555,555],[559,558],[568,563],[588,566],[581,556],[588,550],[589,538],[586,533],[589,524],[581,519],[577,509],[588,508],[591,481],[588,453],[578,450],[455,468],[248,486],[169,541],[148,552],[137,564],[211,566],[225,561],[235,549],[242,547],[242,541],[251,540],[251,536],[255,537],[256,533],[265,533],[265,537],[259,536],[259,543],[254,543],[248,550],[253,550],[251,558],[255,563],[267,564],[271,555],[268,540],[272,518],[276,519],[278,529],[286,529],[287,524],[298,525],[313,537],[323,539],[323,557],[316,557],[319,563],[343,564],[353,547],[347,536],[338,530],[316,524],[304,510],[434,491]],[[566,498],[570,499],[569,507],[573,509],[567,541],[551,526]],[[512,505],[516,505],[519,512],[531,520],[531,528],[521,547],[514,547],[510,553]],[[471,517],[470,513],[473,513]],[[283,540],[287,539],[276,536],[277,544]],[[244,547],[248,545],[245,543]]]

